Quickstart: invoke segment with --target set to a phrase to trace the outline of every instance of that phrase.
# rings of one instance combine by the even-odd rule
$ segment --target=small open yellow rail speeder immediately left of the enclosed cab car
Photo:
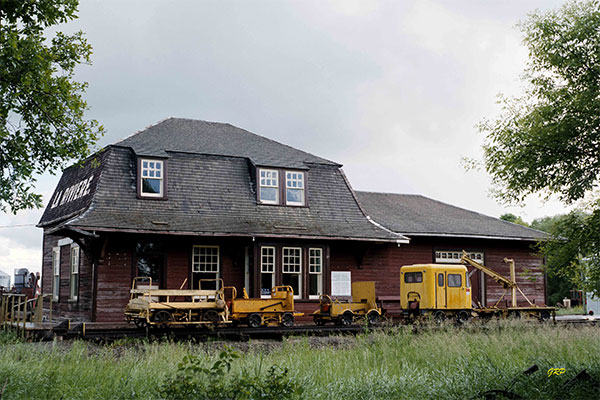
[[[357,319],[367,319],[371,326],[381,321],[381,308],[375,302],[375,282],[352,282],[352,301],[332,300],[326,294],[319,297],[319,309],[313,314],[317,325],[333,322],[348,326]]]

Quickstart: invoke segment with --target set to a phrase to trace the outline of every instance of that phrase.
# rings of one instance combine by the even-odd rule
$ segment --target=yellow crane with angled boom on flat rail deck
[[[498,301],[496,301],[496,303],[493,306],[473,309],[473,311],[475,311],[477,314],[479,314],[480,317],[485,318],[485,317],[491,317],[491,316],[500,316],[500,317],[508,316],[508,317],[519,318],[522,315],[529,315],[532,317],[539,318],[541,320],[547,320],[550,318],[550,316],[552,316],[554,318],[555,312],[556,312],[556,309],[554,307],[538,306],[538,305],[532,303],[531,300],[529,300],[529,298],[527,298],[525,293],[523,293],[521,288],[519,288],[519,285],[517,285],[517,281],[516,281],[515,261],[514,260],[509,259],[509,258],[504,259],[504,262],[507,263],[510,267],[510,279],[498,274],[497,272],[491,270],[490,268],[487,268],[483,264],[480,264],[477,261],[473,260],[472,258],[469,257],[468,253],[464,250],[463,250],[462,257],[461,257],[461,262],[465,265],[470,265],[470,266],[480,270],[481,272],[483,272],[487,276],[491,277],[493,280],[495,280],[497,283],[499,283],[504,288],[504,293],[502,293],[502,296],[500,296]],[[500,302],[504,299],[504,297],[506,296],[506,294],[508,293],[509,290],[511,293],[511,306],[507,307],[507,308],[498,307],[498,304],[500,304]],[[527,301],[529,306],[525,306],[525,307],[517,306],[517,291],[521,294],[521,296],[523,296],[523,298]]]

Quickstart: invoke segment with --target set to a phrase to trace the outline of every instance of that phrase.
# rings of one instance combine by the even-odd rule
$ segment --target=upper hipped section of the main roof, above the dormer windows
[[[139,156],[168,157],[171,151],[243,157],[254,165],[271,167],[341,166],[230,124],[183,118],[166,119],[115,145],[131,147]]]

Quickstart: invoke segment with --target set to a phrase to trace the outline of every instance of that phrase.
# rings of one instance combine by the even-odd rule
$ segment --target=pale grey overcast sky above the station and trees
[[[565,212],[489,196],[475,125],[519,94],[515,24],[562,1],[92,1],[88,116],[114,143],[167,117],[228,122],[344,165],[355,189],[417,193],[527,221]],[[59,176],[43,176],[47,202]],[[43,210],[0,214],[0,269],[40,270]],[[8,225],[29,225],[11,227]]]

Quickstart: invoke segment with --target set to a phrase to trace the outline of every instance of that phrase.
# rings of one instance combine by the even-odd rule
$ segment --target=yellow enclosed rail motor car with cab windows
[[[409,315],[436,320],[471,317],[471,282],[464,265],[415,264],[400,268],[400,306]]]

